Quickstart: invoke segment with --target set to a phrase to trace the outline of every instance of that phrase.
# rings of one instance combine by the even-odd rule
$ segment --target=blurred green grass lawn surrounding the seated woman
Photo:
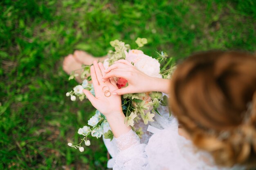
[[[79,127],[94,113],[71,102],[63,57],[105,55],[119,39],[176,59],[210,49],[256,49],[255,0],[1,0],[0,170],[104,170],[102,140],[81,153]]]

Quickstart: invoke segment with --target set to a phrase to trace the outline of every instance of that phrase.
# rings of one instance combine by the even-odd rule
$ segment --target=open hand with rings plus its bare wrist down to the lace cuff
[[[114,78],[111,77],[105,79],[104,82],[102,81],[102,76],[105,75],[104,70],[105,68],[102,63],[93,62],[91,77],[95,97],[90,91],[83,90],[83,93],[90,100],[92,106],[106,116],[114,136],[119,137],[129,132],[131,128],[124,123],[125,115],[122,111],[121,96],[111,94],[111,91],[118,89]]]

